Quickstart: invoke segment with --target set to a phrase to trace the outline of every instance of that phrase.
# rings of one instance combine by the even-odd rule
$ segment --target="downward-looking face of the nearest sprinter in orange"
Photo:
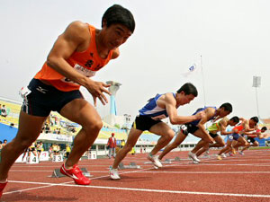
[[[118,48],[131,36],[131,31],[122,24],[112,24],[110,27],[103,26],[103,42],[109,49]]]

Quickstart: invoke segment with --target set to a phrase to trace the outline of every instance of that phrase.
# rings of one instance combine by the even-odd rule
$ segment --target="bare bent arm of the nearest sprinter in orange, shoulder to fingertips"
[[[94,105],[96,105],[96,98],[105,104],[105,102],[108,101],[103,92],[110,94],[110,92],[105,89],[110,85],[102,82],[94,82],[85,75],[76,72],[76,70],[67,63],[67,58],[75,51],[84,51],[88,47],[89,39],[90,33],[87,24],[83,22],[70,23],[66,31],[58,37],[58,40],[56,40],[53,48],[50,50],[49,56],[47,57],[47,64],[59,74],[85,86],[94,98]]]

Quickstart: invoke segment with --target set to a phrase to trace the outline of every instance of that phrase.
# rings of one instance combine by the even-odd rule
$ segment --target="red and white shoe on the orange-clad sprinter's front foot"
[[[79,167],[75,164],[72,169],[66,169],[65,163],[63,163],[60,172],[63,175],[67,175],[68,177],[72,178],[76,184],[79,185],[89,185],[91,183],[91,180],[86,178],[85,175],[83,175],[83,172],[79,169]]]

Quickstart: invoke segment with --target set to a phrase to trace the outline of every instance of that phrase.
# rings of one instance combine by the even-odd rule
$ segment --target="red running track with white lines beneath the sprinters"
[[[137,162],[141,169],[121,170],[121,180],[110,180],[108,168],[112,159],[84,160],[79,163],[90,171],[90,186],[75,185],[73,180],[51,178],[58,162],[39,164],[15,163],[2,201],[183,201],[183,202],[251,202],[270,201],[270,151],[247,151],[222,161],[202,158],[193,164],[187,152],[174,152],[166,158],[179,156],[180,162],[153,169],[146,154],[128,155],[123,163]]]

